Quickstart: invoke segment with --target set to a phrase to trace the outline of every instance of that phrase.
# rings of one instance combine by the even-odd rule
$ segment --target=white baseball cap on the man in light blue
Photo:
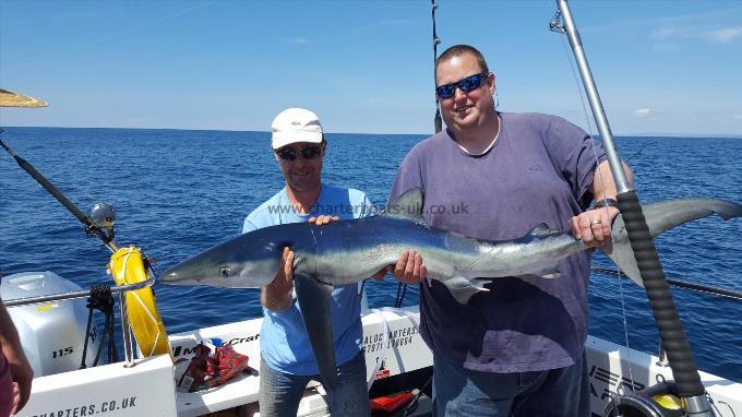
[[[315,114],[303,108],[287,108],[273,119],[271,146],[274,150],[297,142],[322,143],[322,124]]]

